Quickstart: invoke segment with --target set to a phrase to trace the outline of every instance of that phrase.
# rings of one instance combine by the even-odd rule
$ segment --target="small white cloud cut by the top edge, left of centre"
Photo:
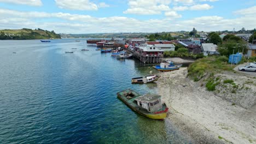
[[[72,9],[72,10],[98,10],[95,3],[89,0],[55,0],[57,6],[61,9]]]

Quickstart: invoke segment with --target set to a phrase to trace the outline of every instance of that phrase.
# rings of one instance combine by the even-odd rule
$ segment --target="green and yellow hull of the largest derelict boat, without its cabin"
[[[144,116],[144,117],[148,117],[148,118],[152,118],[152,119],[165,119],[166,118],[166,113],[168,111],[168,107],[166,106],[166,104],[161,104],[161,99],[159,95],[153,95],[151,96],[150,94],[146,94],[146,95],[140,95],[135,91],[132,91],[131,89],[126,89],[125,91],[121,91],[117,93],[118,98],[123,101],[128,107],[130,107],[130,109],[132,109],[133,111],[139,113],[140,115]],[[139,106],[138,104],[141,104],[141,102],[139,102],[140,99],[150,99],[150,97],[158,97],[159,99],[157,99],[157,104],[155,104],[154,106],[160,106],[160,109],[154,111],[154,112],[149,112],[147,109],[144,109],[142,106]],[[155,103],[156,101],[154,101]],[[149,105],[153,105],[152,103],[148,103]],[[143,106],[145,106],[144,104],[142,104]],[[147,106],[147,105],[146,105]],[[149,109],[154,109],[154,108],[149,108]]]

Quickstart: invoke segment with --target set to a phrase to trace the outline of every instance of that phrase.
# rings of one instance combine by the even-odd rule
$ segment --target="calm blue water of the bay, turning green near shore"
[[[157,93],[155,83],[131,85],[154,69],[95,49],[85,39],[0,40],[0,143],[190,142],[117,99],[127,88]]]

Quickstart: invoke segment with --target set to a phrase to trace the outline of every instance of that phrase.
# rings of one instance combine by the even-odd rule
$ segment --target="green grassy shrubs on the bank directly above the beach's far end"
[[[223,57],[205,57],[197,59],[189,65],[188,76],[194,81],[199,81],[202,77],[222,70],[232,70],[229,64],[226,64],[226,58]]]

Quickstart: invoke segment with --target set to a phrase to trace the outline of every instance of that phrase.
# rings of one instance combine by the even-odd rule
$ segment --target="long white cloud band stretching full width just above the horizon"
[[[130,17],[92,17],[69,13],[44,13],[38,11],[17,11],[0,9],[1,28],[43,28],[57,33],[112,33],[112,32],[163,32],[163,31],[221,31],[233,28],[255,28],[256,19],[252,16],[224,19],[221,16],[201,16],[189,20],[175,20],[179,17],[175,11],[165,11],[167,19],[139,20]],[[42,22],[42,18],[48,19]],[[62,19],[65,22],[60,22]],[[38,21],[39,20],[39,21]],[[117,22],[118,21],[118,22]]]

